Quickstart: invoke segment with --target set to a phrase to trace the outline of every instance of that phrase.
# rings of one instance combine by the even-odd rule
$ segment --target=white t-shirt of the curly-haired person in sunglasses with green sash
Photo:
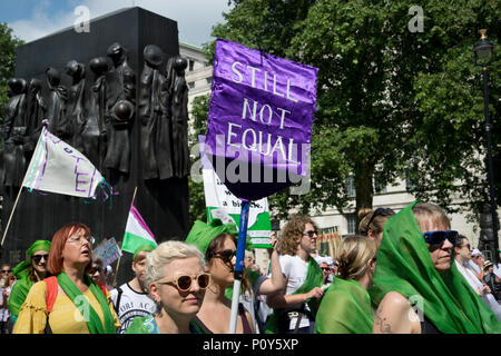
[[[308,264],[304,261],[299,256],[283,255],[279,256],[282,273],[287,280],[287,287],[285,289],[286,295],[292,295],[294,291],[299,289],[299,287],[306,280],[306,274],[308,270]],[[310,290],[308,290],[310,291]],[[306,305],[306,309],[310,310]],[[297,317],[291,318],[289,329],[296,327]],[[303,316],[299,323],[301,327],[308,327],[310,320]]]

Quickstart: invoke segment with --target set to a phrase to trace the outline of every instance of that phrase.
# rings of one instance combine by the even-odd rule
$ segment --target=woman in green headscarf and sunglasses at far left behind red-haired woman
[[[12,316],[12,323],[19,315],[19,309],[24,303],[26,297],[31,286],[43,280],[47,277],[47,261],[49,259],[50,241],[37,240],[28,248],[28,260],[17,265],[12,274],[18,278],[18,281],[12,287],[9,298],[9,310]]]

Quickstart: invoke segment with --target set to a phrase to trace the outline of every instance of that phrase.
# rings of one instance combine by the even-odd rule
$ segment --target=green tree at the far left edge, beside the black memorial
[[[0,23],[0,109],[9,101],[7,83],[14,73],[16,49],[22,43],[23,41],[12,34],[12,29],[7,23]],[[0,110],[0,125],[2,123],[3,110]]]

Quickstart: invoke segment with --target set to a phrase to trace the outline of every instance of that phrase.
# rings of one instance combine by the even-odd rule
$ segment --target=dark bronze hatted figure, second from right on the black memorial
[[[145,47],[145,67],[140,78],[139,117],[144,179],[173,177],[170,148],[170,86],[159,68],[164,52],[154,44]]]

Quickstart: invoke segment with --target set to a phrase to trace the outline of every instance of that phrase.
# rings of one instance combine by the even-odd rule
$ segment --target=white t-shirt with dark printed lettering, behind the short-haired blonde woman
[[[121,324],[121,327],[117,330],[117,334],[125,334],[135,318],[155,313],[156,305],[148,293],[137,293],[130,288],[128,283],[122,284],[119,288],[122,293],[118,308],[118,288],[111,290],[110,294]]]

